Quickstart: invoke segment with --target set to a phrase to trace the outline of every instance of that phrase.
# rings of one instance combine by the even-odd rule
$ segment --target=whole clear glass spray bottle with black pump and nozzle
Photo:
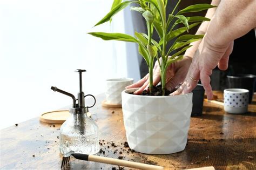
[[[69,117],[60,127],[60,142],[59,151],[63,155],[68,155],[69,152],[95,154],[99,151],[99,137],[98,126],[95,121],[88,118],[86,113],[90,107],[96,103],[96,99],[91,94],[84,96],[82,91],[82,72],[86,70],[76,70],[79,72],[79,88],[78,98],[76,99],[73,94],[51,87],[51,90],[65,94],[73,99],[73,105],[69,112]],[[84,98],[91,96],[95,103],[92,106],[85,106]]]

